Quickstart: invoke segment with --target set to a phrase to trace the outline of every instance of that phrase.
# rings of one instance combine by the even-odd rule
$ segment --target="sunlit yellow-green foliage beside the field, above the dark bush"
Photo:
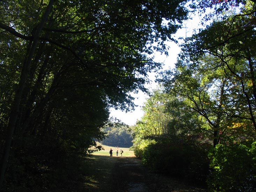
[[[189,141],[191,145],[207,143],[208,136],[202,139],[208,133],[203,128],[204,123],[199,115],[186,108],[183,100],[164,93],[160,88],[154,90],[144,104],[145,113],[142,119],[133,127],[135,147],[143,149],[147,144],[163,137],[171,140],[173,144],[184,141]]]

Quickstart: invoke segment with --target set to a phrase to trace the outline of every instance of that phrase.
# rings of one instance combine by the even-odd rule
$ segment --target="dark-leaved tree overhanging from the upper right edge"
[[[211,55],[214,70],[221,70],[227,82],[225,110],[233,117],[251,120],[256,128],[254,13],[255,5],[248,1],[241,13],[213,22],[188,38],[183,55],[189,54],[194,61]]]

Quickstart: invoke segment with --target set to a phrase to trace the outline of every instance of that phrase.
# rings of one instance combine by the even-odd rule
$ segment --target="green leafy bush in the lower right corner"
[[[256,191],[256,142],[249,145],[217,145],[209,154],[211,191]]]

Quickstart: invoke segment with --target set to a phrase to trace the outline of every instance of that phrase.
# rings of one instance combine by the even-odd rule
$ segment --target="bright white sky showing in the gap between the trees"
[[[184,28],[178,30],[178,32],[175,34],[175,38],[178,40],[178,37],[185,37],[185,35],[190,36],[192,34],[193,29],[198,26],[199,21],[199,17],[196,16],[193,18],[193,21],[187,21],[184,25]],[[173,42],[167,42],[166,44],[170,47],[168,51],[169,56],[166,57],[165,55],[160,55],[156,52],[154,59],[154,61],[161,62],[164,64],[164,70],[169,69],[170,67],[173,68],[175,66],[177,56],[180,52],[180,48],[177,44]],[[150,91],[152,91],[157,87],[157,84],[155,83],[155,74],[149,74],[149,78],[152,81],[152,83],[147,87],[150,89]],[[114,118],[121,120],[129,126],[135,125],[136,121],[141,119],[141,117],[143,116],[142,106],[146,101],[146,98],[148,98],[148,96],[141,91],[136,95],[132,94],[132,96],[136,98],[134,100],[135,105],[138,105],[138,107],[135,108],[135,111],[125,113],[121,110],[111,109],[110,113],[110,116],[113,116]]]

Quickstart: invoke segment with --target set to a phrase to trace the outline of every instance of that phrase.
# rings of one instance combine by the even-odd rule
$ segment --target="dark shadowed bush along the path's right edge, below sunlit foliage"
[[[152,170],[191,182],[205,183],[208,176],[207,151],[191,145],[150,144],[143,151],[142,161]]]

